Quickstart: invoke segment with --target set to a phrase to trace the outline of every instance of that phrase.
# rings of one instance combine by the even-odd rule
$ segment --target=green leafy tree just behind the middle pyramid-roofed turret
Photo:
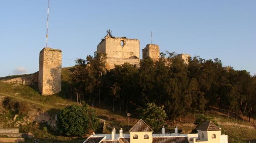
[[[145,109],[142,110],[141,118],[147,123],[154,131],[158,131],[164,125],[167,115],[163,106],[158,107],[154,103],[148,103]]]

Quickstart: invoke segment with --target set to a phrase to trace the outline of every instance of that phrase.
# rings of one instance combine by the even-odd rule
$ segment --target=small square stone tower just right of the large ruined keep
[[[153,61],[158,61],[160,56],[160,49],[158,45],[148,44],[144,49],[142,49],[142,59],[150,57]]]

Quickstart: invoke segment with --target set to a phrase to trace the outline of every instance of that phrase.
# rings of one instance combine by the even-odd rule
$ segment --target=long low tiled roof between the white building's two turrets
[[[152,143],[189,143],[187,137],[152,137]]]

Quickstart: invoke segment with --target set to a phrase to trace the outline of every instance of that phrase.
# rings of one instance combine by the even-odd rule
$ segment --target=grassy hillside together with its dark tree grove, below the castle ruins
[[[190,133],[195,129],[195,116],[203,113],[218,120],[230,143],[255,139],[251,121],[255,118],[255,76],[245,70],[226,71],[218,59],[193,57],[186,66],[175,54],[167,55],[162,54],[158,62],[147,58],[139,68],[125,63],[107,70],[104,55],[95,53],[94,57],[79,59],[75,67],[63,68],[62,91],[50,96],[40,95],[37,87],[0,82],[0,97],[10,98],[8,106],[0,107],[0,126],[18,126],[20,132],[32,132],[41,143],[81,143],[84,139],[80,137],[62,137],[45,124],[28,122],[30,110],[58,113],[59,109],[85,101],[90,104],[88,108],[95,109],[96,115],[105,120],[105,133],[110,133],[113,127],[128,132],[142,115],[136,109],[147,110],[146,105],[154,103],[163,107],[168,116],[166,132],[173,132],[177,125],[181,133]],[[14,115],[19,114],[19,106],[12,106],[16,102],[26,104],[30,110],[24,118],[13,121]],[[126,112],[132,113],[129,126]]]

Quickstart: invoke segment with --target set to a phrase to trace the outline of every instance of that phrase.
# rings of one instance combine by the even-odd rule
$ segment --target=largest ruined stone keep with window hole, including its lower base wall
[[[97,46],[97,52],[107,54],[108,69],[114,68],[115,64],[121,65],[125,62],[140,64],[140,41],[138,39],[105,36]]]

